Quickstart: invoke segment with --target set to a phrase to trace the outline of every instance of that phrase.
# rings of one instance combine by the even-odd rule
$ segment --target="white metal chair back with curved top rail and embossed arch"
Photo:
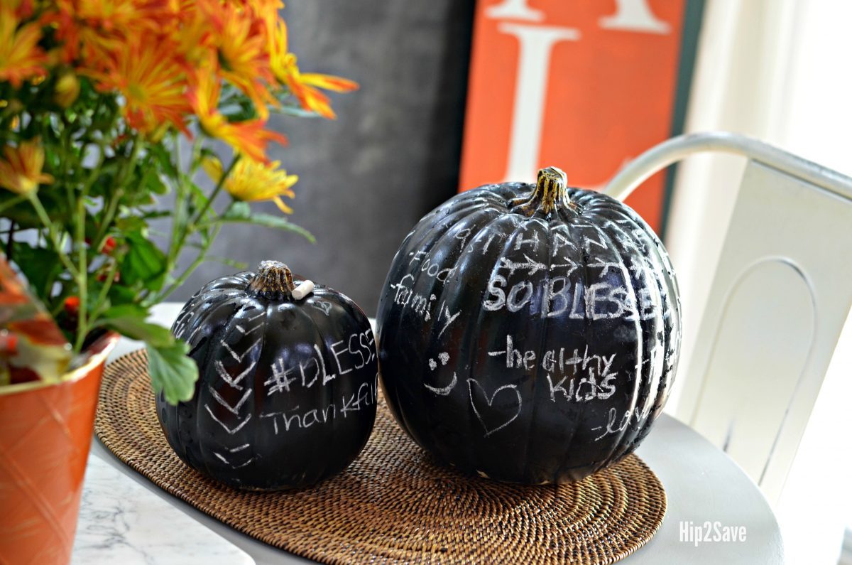
[[[624,197],[699,151],[748,159],[682,373],[677,416],[734,458],[773,503],[852,306],[852,178],[733,134],[676,137],[613,178]]]

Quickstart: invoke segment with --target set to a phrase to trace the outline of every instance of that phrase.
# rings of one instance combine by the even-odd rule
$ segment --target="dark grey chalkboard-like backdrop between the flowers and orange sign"
[[[299,175],[291,220],[317,238],[226,225],[211,254],[279,259],[348,294],[368,315],[402,238],[458,188],[473,0],[302,0],[283,15],[303,72],[338,74],[360,90],[332,95],[337,120],[273,116],[290,138],[269,155]],[[272,203],[258,212],[280,213]],[[184,258],[187,265],[192,257]],[[208,262],[170,300],[232,273]]]

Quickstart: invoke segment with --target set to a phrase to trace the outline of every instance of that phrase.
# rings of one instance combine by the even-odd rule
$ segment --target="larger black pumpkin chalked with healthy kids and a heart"
[[[380,378],[397,421],[440,459],[501,481],[575,481],[648,434],[680,328],[648,225],[544,169],[535,185],[457,195],[406,236],[379,303]]]

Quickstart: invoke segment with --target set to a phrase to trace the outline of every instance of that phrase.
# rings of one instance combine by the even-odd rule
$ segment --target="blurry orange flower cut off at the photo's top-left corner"
[[[20,26],[18,15],[8,3],[0,5],[0,81],[8,80],[15,88],[26,79],[44,77],[47,61],[38,41],[42,30],[35,21]]]

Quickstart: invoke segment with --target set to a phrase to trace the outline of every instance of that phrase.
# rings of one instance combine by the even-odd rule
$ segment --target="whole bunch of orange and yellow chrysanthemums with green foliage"
[[[310,237],[280,215],[250,212],[249,201],[266,200],[291,212],[282,197],[296,176],[267,157],[269,143],[285,143],[269,114],[334,118],[322,90],[356,88],[299,70],[281,8],[0,0],[6,259],[74,352],[109,329],[146,341],[153,386],[170,402],[192,394],[197,369],[185,344],[145,321],[149,308],[204,261],[222,224]],[[210,149],[216,140],[233,149],[225,163]],[[212,203],[222,191],[230,201],[220,213]],[[174,205],[158,201],[168,192]],[[151,241],[155,218],[170,219],[164,249]],[[192,265],[177,273],[185,252]]]

